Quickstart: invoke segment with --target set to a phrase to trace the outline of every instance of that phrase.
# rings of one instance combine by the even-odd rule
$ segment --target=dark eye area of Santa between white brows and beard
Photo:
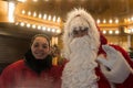
[[[73,31],[73,37],[82,37],[84,35],[88,35],[88,29]]]

